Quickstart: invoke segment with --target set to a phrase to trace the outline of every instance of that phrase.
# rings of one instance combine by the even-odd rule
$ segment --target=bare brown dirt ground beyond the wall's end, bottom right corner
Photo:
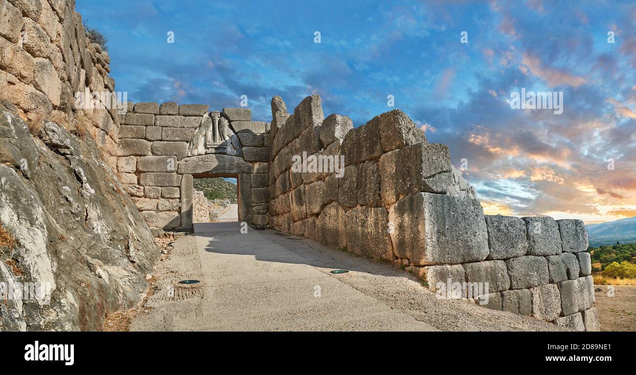
[[[614,286],[613,297],[608,296],[611,286],[594,287],[600,330],[636,332],[636,286]]]

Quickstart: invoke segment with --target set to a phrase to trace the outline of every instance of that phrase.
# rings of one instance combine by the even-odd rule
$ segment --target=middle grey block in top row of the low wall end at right
[[[561,235],[558,224],[548,216],[526,216],[528,255],[556,255],[561,253]]]

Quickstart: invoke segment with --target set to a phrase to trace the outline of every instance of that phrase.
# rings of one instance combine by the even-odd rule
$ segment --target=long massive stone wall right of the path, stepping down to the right
[[[598,331],[583,222],[485,216],[448,147],[400,110],[353,128],[318,95],[293,114],[275,96],[270,136],[270,227],[392,261],[443,298]],[[344,168],[311,169],[329,156]]]

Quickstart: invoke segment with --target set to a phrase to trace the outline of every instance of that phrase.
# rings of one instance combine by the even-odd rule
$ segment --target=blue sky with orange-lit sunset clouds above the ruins
[[[111,76],[134,102],[222,109],[247,95],[253,119],[270,121],[273,95],[291,111],[319,93],[325,115],[359,126],[390,110],[393,95],[429,141],[450,146],[455,166],[467,160],[487,213],[636,216],[633,2],[77,0],[76,9],[109,36]],[[521,88],[562,91],[563,114],[511,109]]]

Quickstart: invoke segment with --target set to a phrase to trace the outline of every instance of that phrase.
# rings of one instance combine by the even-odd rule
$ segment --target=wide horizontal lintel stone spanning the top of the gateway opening
[[[240,174],[252,173],[253,170],[252,164],[244,161],[242,157],[224,154],[186,157],[179,162],[179,174]]]

